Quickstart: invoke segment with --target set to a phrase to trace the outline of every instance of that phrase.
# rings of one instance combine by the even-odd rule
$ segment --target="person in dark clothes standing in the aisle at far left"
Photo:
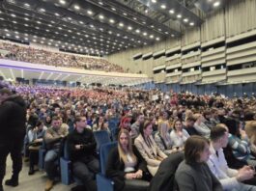
[[[22,168],[21,150],[26,133],[26,104],[20,95],[7,88],[0,90],[0,191],[5,176],[6,159],[9,153],[13,160],[13,176],[5,184],[18,185],[18,174]]]

